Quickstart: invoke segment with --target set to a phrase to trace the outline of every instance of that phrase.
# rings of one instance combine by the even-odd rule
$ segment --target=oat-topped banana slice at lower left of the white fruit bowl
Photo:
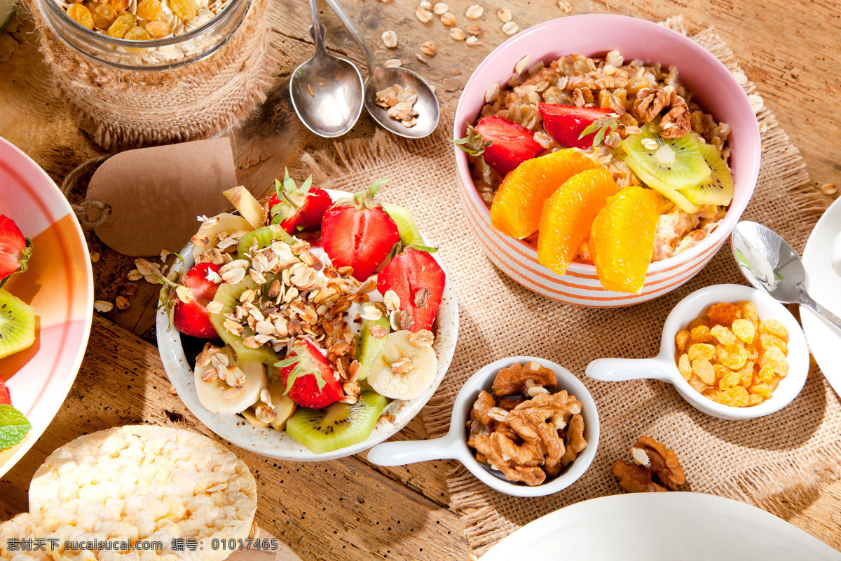
[[[245,376],[246,382],[241,385],[241,390],[231,388],[218,377],[205,382],[202,377],[204,373],[214,370],[213,363],[206,366],[197,364],[193,373],[193,382],[196,384],[198,401],[206,410],[222,415],[234,415],[248,409],[260,399],[260,390],[267,386],[266,368],[263,368],[262,363],[250,360],[235,363],[227,349],[221,350],[220,354],[228,358],[228,364],[239,367]]]

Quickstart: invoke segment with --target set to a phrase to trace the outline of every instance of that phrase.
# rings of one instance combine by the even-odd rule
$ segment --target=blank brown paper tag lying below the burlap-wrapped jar
[[[106,246],[149,257],[181,251],[198,230],[197,216],[230,209],[222,192],[236,185],[230,139],[223,137],[112,156],[91,177],[87,198],[111,206],[94,230]]]

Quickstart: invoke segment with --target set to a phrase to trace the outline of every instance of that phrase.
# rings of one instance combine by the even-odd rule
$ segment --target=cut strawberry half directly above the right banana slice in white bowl
[[[417,332],[432,328],[445,280],[444,270],[435,257],[410,246],[380,271],[377,290],[379,294],[394,290],[400,299],[400,327]]]

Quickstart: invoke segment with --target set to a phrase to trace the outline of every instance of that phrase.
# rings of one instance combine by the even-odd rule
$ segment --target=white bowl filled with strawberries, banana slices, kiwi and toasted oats
[[[179,397],[220,437],[281,460],[344,458],[394,435],[435,393],[458,336],[455,293],[408,210],[374,193],[287,177],[267,204],[235,188],[225,196],[239,214],[200,217],[161,279],[158,347]],[[354,270],[341,253],[357,226]]]

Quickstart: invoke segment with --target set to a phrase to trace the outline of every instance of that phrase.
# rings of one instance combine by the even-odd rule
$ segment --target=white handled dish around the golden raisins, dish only
[[[691,320],[701,316],[712,304],[728,302],[738,304],[749,300],[756,304],[760,320],[780,320],[789,331],[788,363],[789,373],[782,379],[770,400],[752,407],[731,407],[722,405],[696,391],[680,374],[674,362],[674,336],[685,329]],[[684,400],[707,415],[720,419],[754,419],[779,411],[800,394],[809,373],[809,350],[806,337],[794,316],[770,295],[762,290],[741,284],[715,284],[696,290],[680,300],[663,325],[663,339],[660,353],[653,358],[599,358],[587,365],[590,378],[606,382],[621,382],[650,378],[674,384]]]

